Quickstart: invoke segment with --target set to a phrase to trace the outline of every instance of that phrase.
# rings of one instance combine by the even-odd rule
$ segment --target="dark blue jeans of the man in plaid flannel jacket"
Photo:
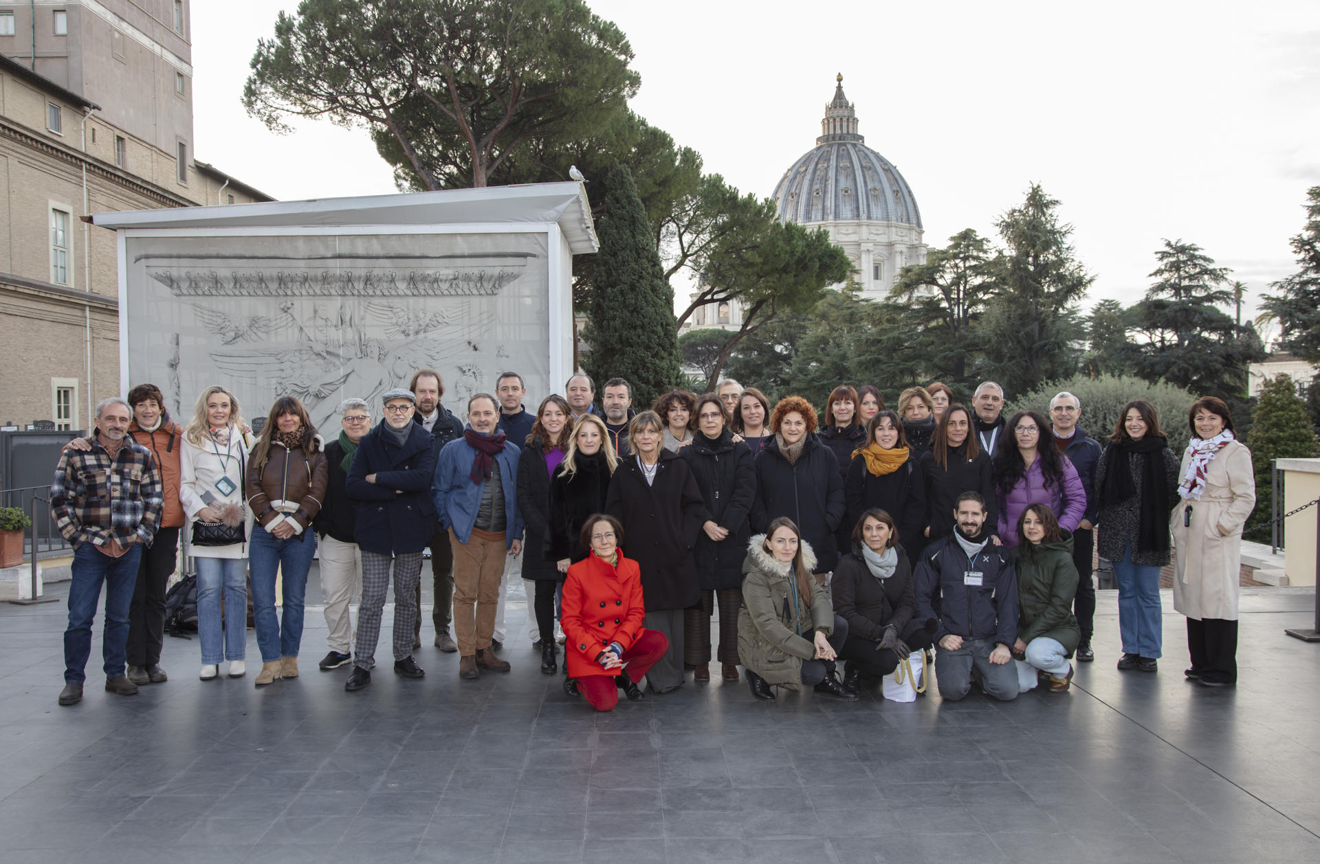
[[[65,628],[65,681],[87,681],[91,656],[91,621],[100,603],[100,583],[106,583],[106,627],[100,640],[106,678],[124,674],[128,660],[128,608],[137,587],[137,565],[143,545],[136,542],[119,558],[98,551],[84,542],[74,551],[73,582],[69,584],[69,627]]]

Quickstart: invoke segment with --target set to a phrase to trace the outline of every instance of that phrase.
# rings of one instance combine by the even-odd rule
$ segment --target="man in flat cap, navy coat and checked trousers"
[[[395,571],[395,671],[421,678],[413,660],[417,627],[417,586],[421,580],[421,550],[430,542],[436,508],[430,480],[436,456],[430,434],[412,422],[416,397],[412,390],[385,390],[385,417],[362,437],[348,466],[345,491],[356,505],[352,534],[362,550],[362,605],[352,673],[343,689],[362,690],[371,683],[380,641],[380,612]]]

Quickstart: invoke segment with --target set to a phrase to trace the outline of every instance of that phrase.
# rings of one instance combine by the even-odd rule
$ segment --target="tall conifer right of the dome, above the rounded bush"
[[[1027,198],[995,222],[1005,241],[997,285],[978,330],[982,375],[1023,392],[1077,369],[1084,327],[1077,302],[1094,281],[1068,241],[1059,201],[1032,183]]]

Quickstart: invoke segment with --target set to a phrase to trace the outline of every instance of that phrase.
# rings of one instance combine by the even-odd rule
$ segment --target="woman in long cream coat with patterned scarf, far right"
[[[1187,677],[1228,687],[1237,683],[1238,570],[1242,526],[1255,507],[1255,472],[1222,400],[1197,400],[1187,419],[1192,441],[1179,470],[1181,500],[1170,521],[1173,608],[1187,616]]]

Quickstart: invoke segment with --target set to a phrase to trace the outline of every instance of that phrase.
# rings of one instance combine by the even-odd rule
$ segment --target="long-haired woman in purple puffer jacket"
[[[1059,526],[1077,530],[1086,512],[1086,489],[1077,470],[1055,446],[1049,421],[1036,412],[1018,412],[999,437],[994,454],[994,484],[999,499],[999,540],[1016,546],[1018,521],[1032,504],[1059,513]],[[1067,442],[1065,442],[1067,443]]]

